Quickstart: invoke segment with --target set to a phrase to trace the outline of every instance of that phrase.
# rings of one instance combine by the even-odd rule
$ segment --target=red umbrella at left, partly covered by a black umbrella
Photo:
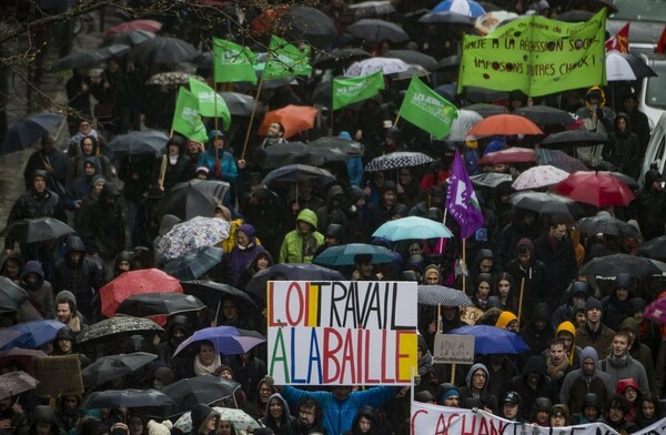
[[[160,292],[182,293],[183,287],[180,281],[159,269],[125,272],[100,289],[102,314],[107,317],[114,316],[120,303],[133,294]]]

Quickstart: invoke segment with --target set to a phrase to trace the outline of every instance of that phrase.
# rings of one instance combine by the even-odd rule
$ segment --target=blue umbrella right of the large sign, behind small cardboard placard
[[[487,325],[466,325],[452,330],[450,334],[472,335],[474,337],[475,354],[518,354],[529,351],[518,334],[511,331],[487,326]]]

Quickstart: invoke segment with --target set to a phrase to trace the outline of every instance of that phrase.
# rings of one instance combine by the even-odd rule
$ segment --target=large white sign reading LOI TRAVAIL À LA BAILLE
[[[276,384],[411,384],[416,283],[274,281],[266,300]]]

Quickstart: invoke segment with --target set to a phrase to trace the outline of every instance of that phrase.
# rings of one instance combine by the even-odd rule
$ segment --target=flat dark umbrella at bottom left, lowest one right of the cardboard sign
[[[107,390],[85,396],[81,409],[167,406],[173,403],[171,397],[157,390]]]

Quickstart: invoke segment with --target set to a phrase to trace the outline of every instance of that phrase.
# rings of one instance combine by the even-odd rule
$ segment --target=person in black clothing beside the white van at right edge
[[[615,129],[608,134],[608,143],[604,145],[602,155],[604,160],[633,179],[638,179],[643,150],[638,136],[632,133],[632,119],[628,114],[619,112],[615,117]]]

